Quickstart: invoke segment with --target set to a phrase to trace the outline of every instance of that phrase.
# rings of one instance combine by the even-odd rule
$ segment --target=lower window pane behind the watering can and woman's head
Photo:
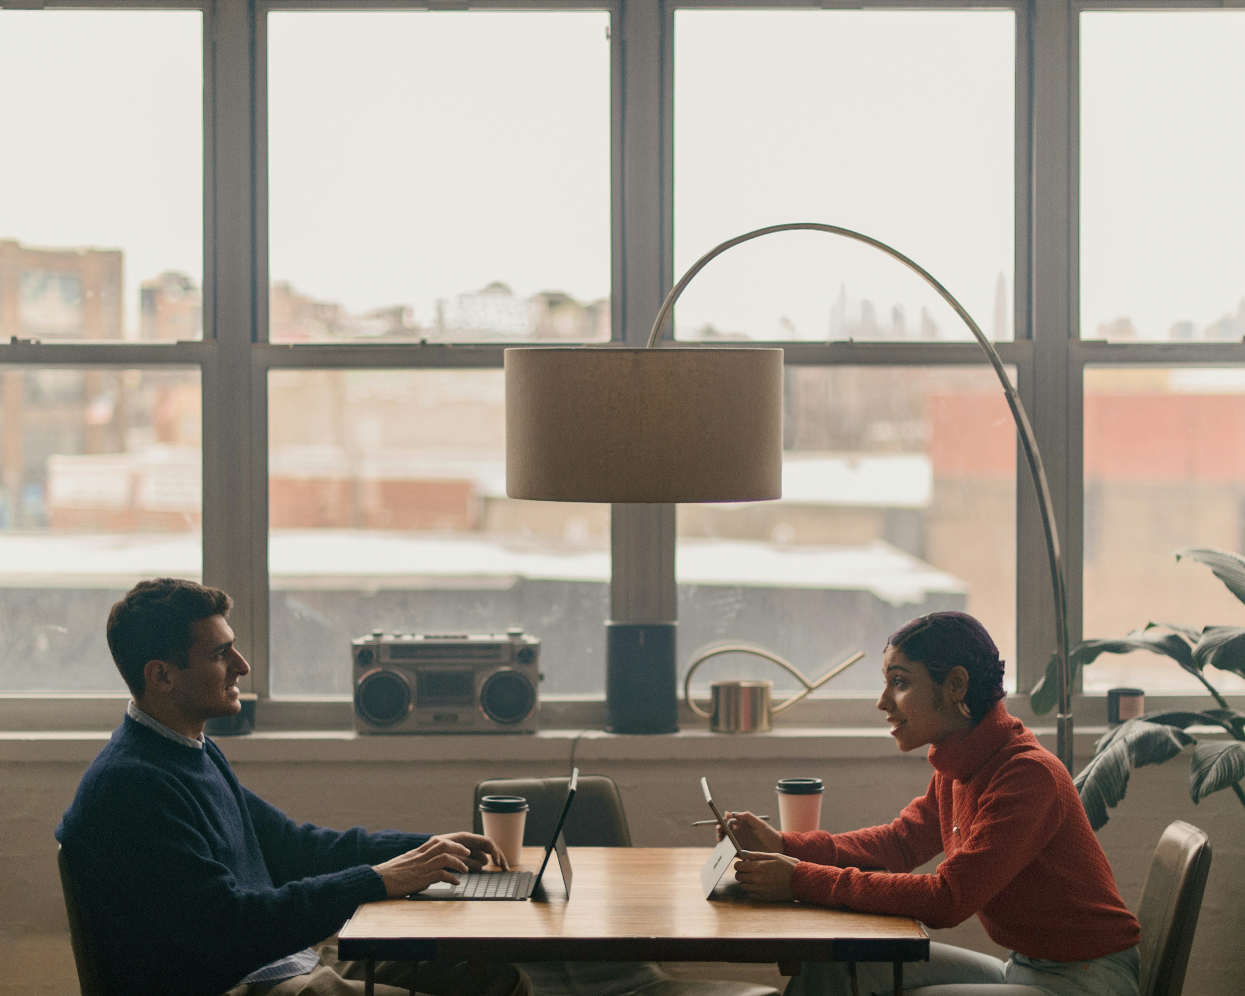
[[[782,499],[679,508],[682,666],[716,640],[809,676],[864,650],[827,690],[878,690],[886,637],[959,609],[1015,687],[1016,430],[994,372],[788,367],[786,387]],[[798,687],[754,659],[697,671],[722,676]]]

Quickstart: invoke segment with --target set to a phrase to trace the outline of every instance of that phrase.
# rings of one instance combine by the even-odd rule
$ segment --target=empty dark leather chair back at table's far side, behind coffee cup
[[[484,796],[522,796],[528,801],[528,820],[523,827],[523,843],[543,848],[566,802],[569,778],[489,778],[476,786],[472,823],[483,833],[479,801]],[[573,848],[629,848],[631,830],[626,825],[622,797],[613,778],[604,774],[579,776],[575,803],[566,814],[563,828],[566,845]]]

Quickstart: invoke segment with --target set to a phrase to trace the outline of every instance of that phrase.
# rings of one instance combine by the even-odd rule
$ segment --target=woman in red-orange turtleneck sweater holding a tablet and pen
[[[751,848],[736,876],[756,899],[798,899],[915,916],[947,928],[976,914],[1008,961],[930,945],[905,991],[939,996],[1137,996],[1140,930],[1089,828],[1072,778],[1003,707],[1003,665],[964,613],[901,626],[883,655],[886,713],[901,751],[930,746],[934,777],[885,827],[778,833],[730,813]],[[757,853],[753,853],[757,852]],[[933,874],[914,868],[945,853]],[[885,872],[865,872],[884,868]],[[891,991],[890,966],[862,964],[860,994]],[[804,965],[787,996],[850,992],[847,966]],[[933,996],[931,991],[931,996]]]

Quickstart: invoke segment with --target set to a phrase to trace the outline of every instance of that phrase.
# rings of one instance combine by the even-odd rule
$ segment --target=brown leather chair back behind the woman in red
[[[1140,996],[1180,996],[1209,874],[1210,840],[1178,819],[1159,838],[1137,906]]]

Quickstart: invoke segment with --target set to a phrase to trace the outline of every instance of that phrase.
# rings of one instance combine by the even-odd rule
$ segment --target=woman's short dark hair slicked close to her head
[[[998,647],[986,627],[967,613],[931,613],[909,620],[886,642],[908,660],[924,665],[940,687],[952,667],[967,671],[964,701],[975,723],[1007,695]]]

